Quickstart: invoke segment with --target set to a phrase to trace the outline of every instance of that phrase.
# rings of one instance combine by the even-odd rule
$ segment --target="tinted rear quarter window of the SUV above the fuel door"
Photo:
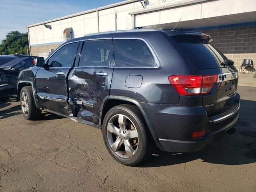
[[[147,44],[139,39],[114,40],[115,66],[155,66],[156,61]]]

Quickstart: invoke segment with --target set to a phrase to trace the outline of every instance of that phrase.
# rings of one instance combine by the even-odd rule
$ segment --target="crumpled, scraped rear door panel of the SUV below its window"
[[[106,76],[97,75],[100,72]],[[76,67],[68,79],[70,108],[79,120],[98,125],[102,99],[110,94],[112,67]]]

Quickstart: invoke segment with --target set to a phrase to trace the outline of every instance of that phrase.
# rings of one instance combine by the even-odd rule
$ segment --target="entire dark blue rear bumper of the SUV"
[[[189,104],[190,102],[188,102]],[[146,104],[144,108],[157,134],[159,148],[168,152],[192,152],[232,132],[239,115],[240,96],[234,106],[222,114],[208,116],[202,106]],[[206,130],[202,138],[192,138],[193,132]]]

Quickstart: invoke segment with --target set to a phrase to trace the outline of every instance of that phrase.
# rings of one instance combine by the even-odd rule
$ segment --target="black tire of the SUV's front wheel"
[[[27,108],[28,111],[23,110],[24,106],[24,98],[23,94],[26,94],[27,97]],[[32,86],[25,86],[21,89],[20,91],[20,106],[22,108],[22,114],[26,120],[35,120],[40,118],[42,110],[38,109],[35,105],[34,97],[33,97],[33,91],[32,91]]]

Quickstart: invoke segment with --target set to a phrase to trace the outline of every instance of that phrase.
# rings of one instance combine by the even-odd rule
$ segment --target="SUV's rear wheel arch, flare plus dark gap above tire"
[[[138,100],[135,100],[133,98],[129,98],[126,96],[114,96],[114,95],[110,95],[110,96],[106,96],[103,98],[102,100],[102,104],[100,107],[100,118],[99,118],[99,125],[102,125],[104,116],[106,115],[106,113],[108,112],[108,110],[114,106],[120,105],[120,104],[132,104],[134,106],[137,106],[140,110],[140,112],[142,113],[142,116],[148,126],[148,129],[152,135],[152,138],[154,139],[156,145],[158,146],[158,148],[160,148],[160,150],[163,150],[160,142],[159,142],[159,138],[156,134],[155,128],[146,112],[146,110],[143,108],[143,106],[140,104],[140,102]]]

